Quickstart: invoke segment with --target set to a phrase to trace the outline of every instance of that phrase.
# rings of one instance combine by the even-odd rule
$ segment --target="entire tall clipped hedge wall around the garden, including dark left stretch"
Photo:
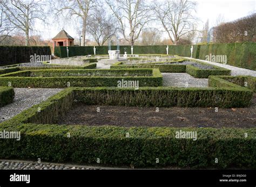
[[[169,54],[190,56],[191,45],[169,46]],[[117,49],[117,46],[111,46]],[[97,46],[96,54],[107,54],[108,46]],[[120,53],[131,54],[131,46],[120,46]],[[30,61],[30,55],[51,55],[50,46],[0,46],[0,66],[24,63]],[[69,47],[69,56],[93,54],[93,46]],[[166,54],[166,46],[133,46],[133,54]],[[241,68],[256,70],[256,44],[255,42],[233,44],[207,44],[193,45],[193,58],[206,59],[206,55],[227,55],[227,64]],[[66,47],[55,47],[55,55],[67,57]]]

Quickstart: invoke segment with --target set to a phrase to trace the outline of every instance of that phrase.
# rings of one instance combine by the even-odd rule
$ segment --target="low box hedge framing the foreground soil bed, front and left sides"
[[[238,87],[239,88],[239,87]],[[225,88],[211,88],[220,96],[228,97],[232,90]],[[240,88],[239,88],[240,89]],[[238,90],[239,90],[238,89]],[[154,99],[158,100],[158,93],[173,88],[140,88],[139,90],[116,88],[68,88],[45,102],[32,106],[14,118],[0,124],[0,131],[20,131],[21,140],[0,139],[0,157],[4,159],[30,159],[49,162],[76,162],[97,164],[114,164],[118,166],[149,167],[149,166],[177,166],[191,168],[228,168],[246,167],[256,168],[256,128],[171,128],[171,127],[116,127],[116,126],[84,126],[84,125],[55,125],[58,118],[70,109],[73,102],[86,104],[111,104],[115,100],[114,94],[122,97],[122,103],[129,103],[129,98],[151,97],[147,93],[154,91]],[[176,92],[187,90],[194,96],[193,90],[177,89]],[[198,89],[200,90],[200,89]],[[207,90],[207,89],[201,89]],[[242,99],[241,92],[236,92]],[[248,90],[241,88],[241,90]],[[137,91],[134,95],[131,91]],[[217,93],[216,92],[216,93]],[[92,97],[93,94],[97,97]],[[171,97],[162,93],[161,96]],[[204,97],[200,92],[198,96]],[[88,96],[89,94],[89,96]],[[109,99],[109,95],[111,99]],[[157,96],[157,97],[156,97]],[[191,100],[184,96],[184,99]],[[207,95],[205,95],[206,98]],[[98,100],[99,98],[100,101]],[[151,97],[153,98],[153,97]],[[90,99],[92,99],[90,101]],[[208,98],[211,99],[211,98]],[[234,98],[234,100],[237,98]],[[166,98],[156,103],[165,106]],[[133,105],[144,105],[135,103]],[[117,104],[117,103],[112,103]],[[40,107],[41,112],[38,112]],[[196,131],[197,140],[177,139],[177,131]],[[68,136],[70,133],[70,138]],[[126,138],[129,133],[129,138]],[[245,138],[245,133],[247,137]],[[22,150],[22,151],[21,151]],[[218,163],[215,163],[215,159]],[[156,163],[159,159],[159,163]]]

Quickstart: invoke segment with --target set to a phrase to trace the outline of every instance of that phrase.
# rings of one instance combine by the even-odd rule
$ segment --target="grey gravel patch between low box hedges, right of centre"
[[[186,73],[162,73],[164,87],[208,87],[208,78],[194,78]]]

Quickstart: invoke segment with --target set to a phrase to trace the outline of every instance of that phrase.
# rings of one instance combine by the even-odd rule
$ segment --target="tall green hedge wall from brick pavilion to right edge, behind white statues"
[[[125,49],[126,48],[126,49]],[[169,54],[190,57],[191,45],[169,46]],[[111,46],[117,49],[117,46]],[[107,54],[108,46],[96,47],[96,54]],[[120,54],[131,54],[131,46],[120,46]],[[69,56],[92,55],[93,46],[69,47]],[[133,46],[133,54],[166,54],[166,46]],[[246,69],[256,70],[256,43],[244,42],[233,44],[193,45],[195,59],[206,60],[206,55],[227,55],[227,64]],[[66,47],[55,47],[55,55],[67,57]]]

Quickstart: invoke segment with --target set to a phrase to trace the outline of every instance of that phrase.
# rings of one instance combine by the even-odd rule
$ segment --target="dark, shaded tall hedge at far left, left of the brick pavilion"
[[[51,55],[50,46],[0,46],[0,66],[30,62],[30,55]]]

